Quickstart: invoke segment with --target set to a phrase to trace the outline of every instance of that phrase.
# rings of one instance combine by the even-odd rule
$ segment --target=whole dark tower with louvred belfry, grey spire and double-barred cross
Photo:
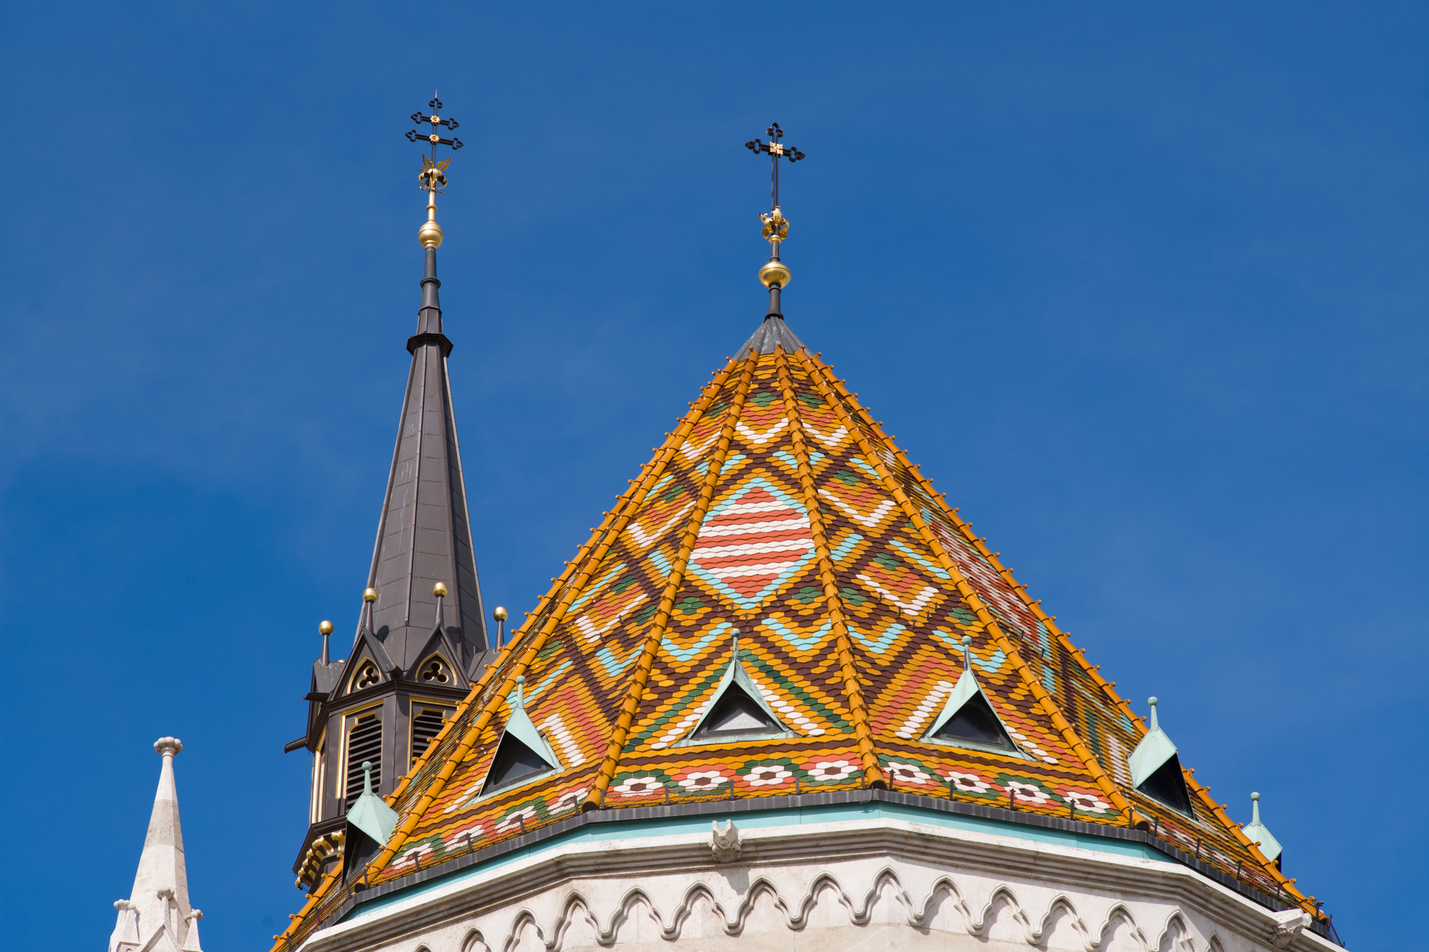
[[[460,149],[462,140],[439,134],[443,127],[457,127],[440,114],[442,101],[433,99],[429,107],[430,113],[413,116],[429,132],[407,133],[432,150],[430,157],[423,156],[419,176],[427,194],[427,220],[417,233],[426,267],[417,329],[407,337],[412,370],[372,569],[347,658],[330,658],[333,625],[319,626],[323,648],[306,698],[307,732],[284,748],[307,749],[313,756],[309,829],[293,866],[304,888],[337,861],[347,836],[347,812],[364,782],[377,795],[396,788],[493,655],[452,412],[452,342],[443,330],[437,293],[442,226],[436,197],[446,189],[450,159],[437,162],[436,149]]]

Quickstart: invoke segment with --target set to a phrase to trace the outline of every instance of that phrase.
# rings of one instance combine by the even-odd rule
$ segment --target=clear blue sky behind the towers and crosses
[[[847,377],[1355,949],[1425,913],[1423,4],[10,3],[6,942],[96,948],[173,733],[210,952],[299,908],[442,204],[487,605],[763,313]],[[26,912],[29,911],[29,912]]]

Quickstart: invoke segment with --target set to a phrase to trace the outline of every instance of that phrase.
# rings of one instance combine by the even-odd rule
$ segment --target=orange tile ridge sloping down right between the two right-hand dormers
[[[809,363],[815,367],[812,373],[815,375],[815,382],[819,385],[819,389],[825,393],[825,399],[829,397],[830,390],[833,393],[843,393],[847,396],[847,390],[845,390],[845,387],[837,382],[837,379],[833,379],[832,373],[826,373],[826,376],[833,379],[833,387],[830,387],[826,380],[817,376],[817,367],[822,365],[822,362],[809,362]],[[825,370],[827,369],[825,367]],[[849,400],[853,402],[853,397],[849,396]],[[855,409],[859,410],[859,416],[867,419],[867,413],[863,410],[862,406],[859,406],[856,402],[853,402],[853,406]],[[923,536],[923,542],[926,542],[929,547],[932,547],[933,555],[937,556],[937,560],[943,565],[943,570],[949,573],[959,593],[963,596],[963,599],[967,600],[969,606],[977,613],[977,619],[983,623],[983,626],[989,632],[992,632],[993,638],[997,640],[997,648],[1000,648],[1002,652],[1007,656],[1007,660],[1012,662],[1013,669],[1022,678],[1023,683],[1027,686],[1027,690],[1032,692],[1032,696],[1037,699],[1037,702],[1052,718],[1052,726],[1062,733],[1062,739],[1072,749],[1072,753],[1076,755],[1083,762],[1083,766],[1086,768],[1087,773],[1092,775],[1092,779],[1102,789],[1102,792],[1107,795],[1112,803],[1116,805],[1119,812],[1133,810],[1135,808],[1132,806],[1132,802],[1127,800],[1126,796],[1122,795],[1120,789],[1117,789],[1117,786],[1110,780],[1110,778],[1106,776],[1106,770],[1102,769],[1102,765],[1096,762],[1096,758],[1092,755],[1092,750],[1086,746],[1082,738],[1077,736],[1076,729],[1062,713],[1062,709],[1056,703],[1056,699],[1053,699],[1052,695],[1047,692],[1047,689],[1042,686],[1040,680],[1032,676],[1032,670],[1027,668],[1027,662],[1023,660],[1022,655],[1017,652],[1016,645],[1013,645],[1012,639],[1009,639],[1003,633],[1002,626],[997,625],[997,620],[993,618],[992,612],[989,612],[987,606],[983,605],[982,598],[977,595],[973,586],[969,585],[967,577],[957,567],[957,563],[955,563],[952,556],[949,556],[947,552],[943,549],[942,540],[939,540],[937,535],[932,532],[932,527],[927,525],[927,520],[923,519],[923,515],[917,512],[917,509],[913,506],[912,500],[907,497],[907,493],[905,493],[902,486],[899,486],[893,480],[887,467],[883,465],[883,460],[879,457],[877,453],[873,452],[873,447],[869,445],[867,437],[863,435],[863,429],[857,425],[856,420],[852,419],[849,409],[845,407],[840,400],[833,400],[833,409],[835,413],[837,413],[843,419],[845,425],[849,426],[849,432],[859,442],[859,447],[863,450],[863,453],[869,457],[869,465],[873,466],[875,472],[879,475],[879,479],[883,482],[885,489],[893,493],[893,499],[897,500],[903,512],[907,513],[909,519],[913,520],[913,526],[917,529],[919,535]],[[872,420],[869,422],[872,423]]]

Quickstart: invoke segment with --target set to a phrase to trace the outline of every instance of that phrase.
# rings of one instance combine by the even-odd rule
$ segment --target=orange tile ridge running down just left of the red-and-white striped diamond
[[[659,608],[650,622],[650,630],[646,632],[644,643],[640,646],[640,660],[636,662],[630,686],[620,702],[620,715],[616,718],[610,739],[606,740],[606,755],[600,760],[596,779],[590,785],[584,802],[580,805],[582,810],[604,805],[606,789],[609,789],[616,768],[620,765],[620,755],[624,752],[624,743],[630,736],[630,725],[634,723],[634,716],[640,710],[644,685],[650,678],[650,668],[654,663],[654,649],[664,639],[664,632],[670,623],[670,610],[674,608],[674,595],[684,582],[684,569],[689,565],[690,552],[694,550],[694,540],[699,536],[700,526],[704,523],[704,513],[709,512],[710,502],[714,499],[714,483],[719,482],[720,470],[725,469],[725,459],[729,456],[729,447],[735,439],[735,425],[739,422],[740,410],[745,409],[745,397],[749,395],[756,363],[757,354],[755,353],[747,354],[743,360],[745,369],[739,375],[735,402],[725,410],[725,422],[720,425],[719,440],[714,443],[714,456],[710,459],[709,469],[704,470],[704,485],[700,486],[699,499],[696,499],[686,519],[684,536],[680,539],[680,547],[674,553],[674,562],[670,565],[670,572],[666,576],[664,590],[660,592]]]

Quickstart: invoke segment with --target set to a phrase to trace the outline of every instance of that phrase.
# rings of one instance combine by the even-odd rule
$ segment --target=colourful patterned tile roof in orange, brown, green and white
[[[1130,706],[819,356],[770,340],[714,375],[392,795],[366,883],[582,809],[890,786],[1145,823],[1313,912],[1189,770],[1193,816],[1132,786]],[[926,738],[965,636],[1017,752]],[[682,745],[736,638],[789,730]],[[562,769],[483,796],[519,676]],[[350,888],[330,873],[276,948]]]

